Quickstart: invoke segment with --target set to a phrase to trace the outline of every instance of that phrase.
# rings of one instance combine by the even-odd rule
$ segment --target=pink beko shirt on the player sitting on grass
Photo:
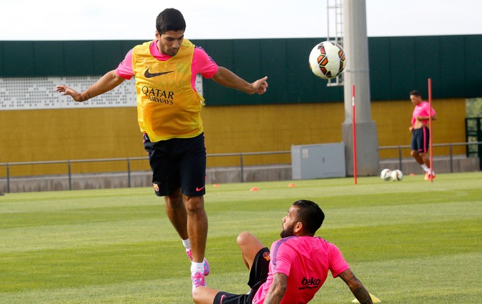
[[[288,276],[281,303],[308,303],[326,278],[328,271],[336,278],[350,266],[337,246],[319,236],[290,236],[272,243],[268,279],[253,298],[253,304],[265,301],[275,273]]]

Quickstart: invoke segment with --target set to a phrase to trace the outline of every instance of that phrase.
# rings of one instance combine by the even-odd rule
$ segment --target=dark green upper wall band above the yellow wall
[[[205,80],[207,105],[340,102],[342,87],[312,75],[308,55],[325,38],[193,40],[219,66],[254,81],[268,75],[263,96],[247,96]],[[0,77],[103,75],[138,40],[0,41]],[[482,96],[482,35],[368,38],[372,100],[403,100],[418,89],[433,98]],[[349,68],[348,59],[348,68]]]

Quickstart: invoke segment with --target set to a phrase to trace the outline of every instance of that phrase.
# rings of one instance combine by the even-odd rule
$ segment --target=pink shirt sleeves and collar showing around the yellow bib
[[[159,61],[170,59],[172,56],[162,54],[157,49],[156,42],[157,40],[153,40],[149,47],[152,56]],[[193,90],[196,91],[196,74],[203,75],[205,78],[212,78],[214,74],[217,73],[217,69],[217,64],[206,54],[205,50],[203,50],[202,47],[195,47],[193,62],[191,64],[191,86],[193,87]],[[131,79],[134,76],[132,70],[132,50],[127,52],[124,60],[119,63],[119,66],[117,66],[115,71],[119,77],[124,79]]]

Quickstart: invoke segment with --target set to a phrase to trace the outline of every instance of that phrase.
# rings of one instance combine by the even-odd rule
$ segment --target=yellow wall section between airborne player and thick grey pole
[[[203,112],[207,153],[289,151],[293,144],[342,141],[344,109],[338,103],[206,107]],[[251,156],[244,164],[260,159],[289,163],[291,155]],[[228,165],[222,159],[208,161],[208,166]]]

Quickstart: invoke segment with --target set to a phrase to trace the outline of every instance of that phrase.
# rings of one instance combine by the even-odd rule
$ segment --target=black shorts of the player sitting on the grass
[[[270,250],[263,248],[254,257],[251,271],[249,271],[248,285],[251,290],[248,294],[230,294],[219,291],[214,297],[214,304],[250,304],[259,287],[266,282],[270,270]]]

